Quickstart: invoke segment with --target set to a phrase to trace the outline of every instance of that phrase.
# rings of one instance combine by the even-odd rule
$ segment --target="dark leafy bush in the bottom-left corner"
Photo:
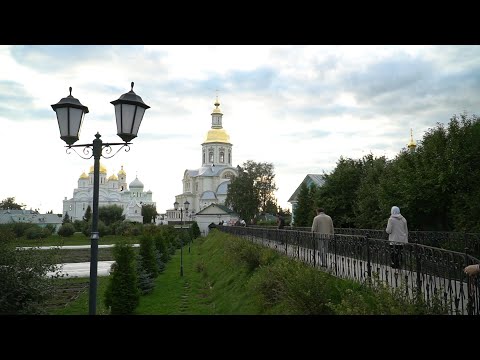
[[[7,227],[0,227],[0,239],[0,315],[44,314],[59,277],[55,251],[16,250]]]

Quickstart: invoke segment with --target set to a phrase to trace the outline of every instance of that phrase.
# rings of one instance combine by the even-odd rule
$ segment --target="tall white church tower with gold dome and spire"
[[[230,136],[222,127],[223,114],[218,97],[212,112],[212,127],[202,143],[202,167],[185,170],[183,192],[175,196],[179,207],[185,201],[190,203],[188,213],[196,214],[211,204],[223,205],[227,197],[230,179],[238,175],[232,166],[232,144]],[[167,210],[167,219],[180,220],[180,211]],[[190,220],[190,219],[184,219]]]

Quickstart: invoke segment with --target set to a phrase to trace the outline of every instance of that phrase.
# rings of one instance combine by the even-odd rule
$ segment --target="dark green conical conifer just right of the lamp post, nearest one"
[[[135,252],[131,245],[118,242],[113,256],[115,262],[105,291],[105,305],[112,315],[132,314],[140,301]]]

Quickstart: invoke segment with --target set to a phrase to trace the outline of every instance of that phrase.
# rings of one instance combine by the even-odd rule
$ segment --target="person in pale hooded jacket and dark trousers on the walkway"
[[[398,269],[402,262],[403,244],[408,243],[407,220],[400,214],[398,206],[392,206],[390,210],[386,232],[390,241],[391,266]]]

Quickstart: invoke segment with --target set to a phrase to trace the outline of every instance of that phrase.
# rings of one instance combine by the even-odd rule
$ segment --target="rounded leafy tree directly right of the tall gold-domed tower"
[[[231,206],[243,219],[253,219],[265,212],[269,203],[276,204],[274,178],[273,164],[248,160],[243,167],[238,166],[238,176],[228,186],[225,205]]]

